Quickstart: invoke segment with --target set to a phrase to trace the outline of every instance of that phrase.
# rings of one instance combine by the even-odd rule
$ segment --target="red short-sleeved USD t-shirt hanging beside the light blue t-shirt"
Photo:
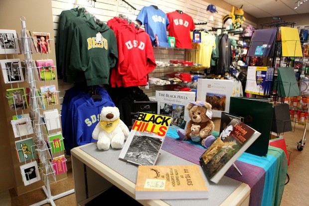
[[[173,11],[166,13],[169,20],[167,26],[169,36],[175,37],[176,47],[178,48],[192,48],[190,31],[194,30],[195,25],[193,19],[188,14],[181,11]]]

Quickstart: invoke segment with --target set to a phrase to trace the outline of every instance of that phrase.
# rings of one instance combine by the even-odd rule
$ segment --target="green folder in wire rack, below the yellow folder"
[[[293,67],[278,67],[278,95],[282,97],[300,96],[300,89]]]

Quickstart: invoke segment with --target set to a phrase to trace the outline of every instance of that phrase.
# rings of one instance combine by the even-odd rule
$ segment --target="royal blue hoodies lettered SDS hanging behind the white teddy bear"
[[[70,155],[70,150],[74,147],[96,141],[92,138],[92,132],[100,121],[102,108],[108,106],[114,107],[115,104],[107,91],[99,86],[89,93],[77,86],[65,92],[61,124],[67,155]]]

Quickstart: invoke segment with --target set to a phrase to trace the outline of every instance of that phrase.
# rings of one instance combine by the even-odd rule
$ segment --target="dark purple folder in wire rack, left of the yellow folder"
[[[251,38],[247,56],[273,56],[275,51],[277,28],[256,30]]]

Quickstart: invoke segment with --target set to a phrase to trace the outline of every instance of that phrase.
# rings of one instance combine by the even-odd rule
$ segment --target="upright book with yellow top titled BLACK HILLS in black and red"
[[[119,155],[136,165],[154,165],[171,117],[140,112]]]

